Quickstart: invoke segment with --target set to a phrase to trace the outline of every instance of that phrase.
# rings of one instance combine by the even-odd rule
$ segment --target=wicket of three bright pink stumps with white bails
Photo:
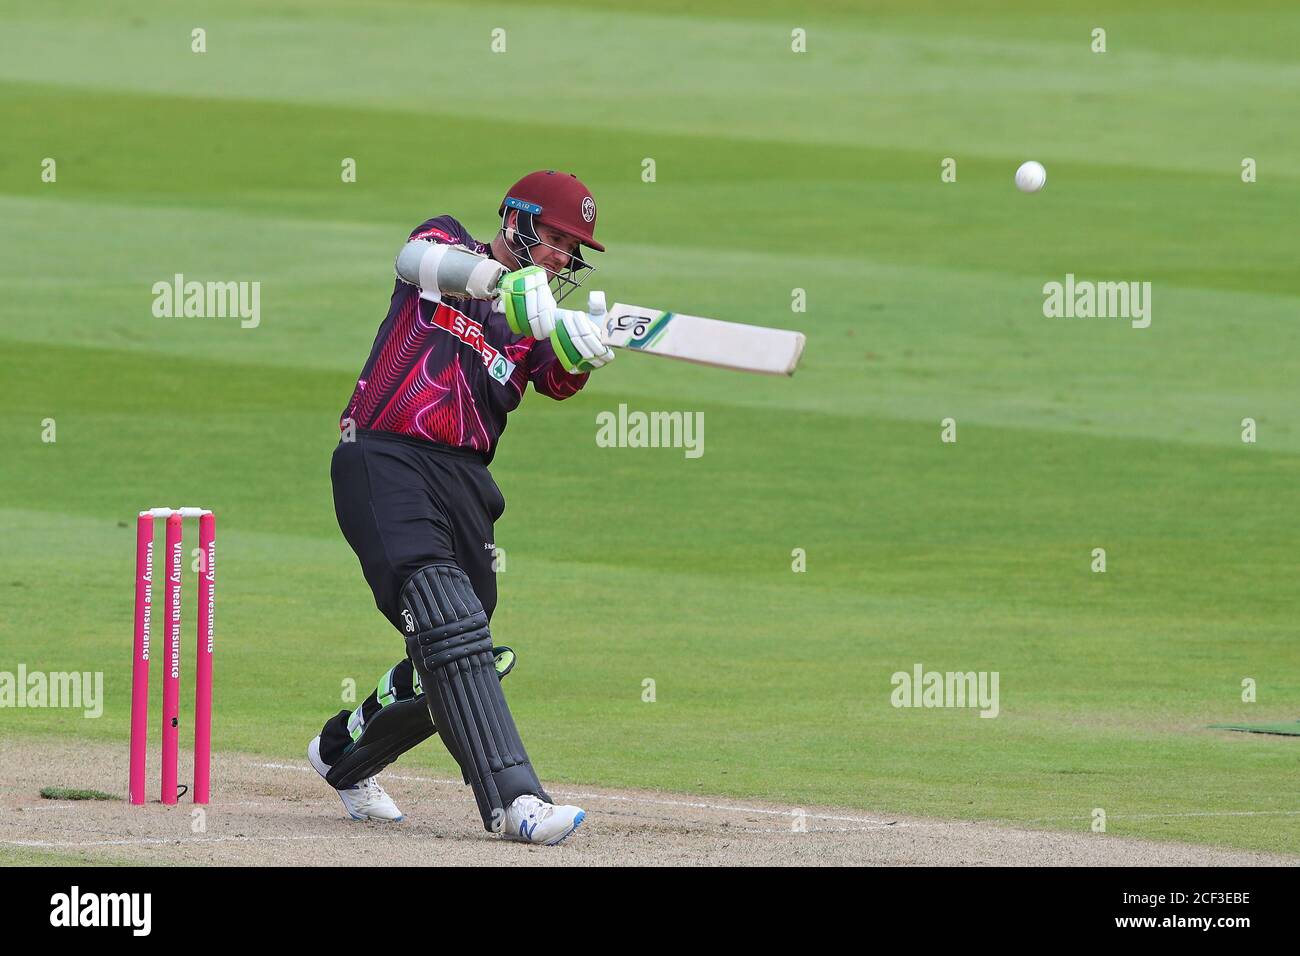
[[[150,721],[150,627],[153,609],[153,519],[166,519],[165,644],[162,663],[162,803],[178,799],[181,726],[181,567],[183,522],[199,519],[199,626],[194,680],[194,803],[208,803],[212,760],[212,602],[217,587],[216,519],[200,507],[155,507],[135,519],[135,644],[131,658],[130,800],[144,803]]]

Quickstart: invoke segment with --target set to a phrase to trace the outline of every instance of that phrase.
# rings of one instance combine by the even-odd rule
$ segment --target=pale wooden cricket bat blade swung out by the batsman
[[[623,303],[606,315],[604,341],[615,349],[762,375],[794,375],[803,354],[802,332]]]

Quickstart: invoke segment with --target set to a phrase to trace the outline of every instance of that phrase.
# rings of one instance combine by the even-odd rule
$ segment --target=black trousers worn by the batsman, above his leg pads
[[[334,514],[352,546],[374,605],[406,640],[402,587],[421,567],[455,563],[469,578],[491,620],[497,606],[493,523],[506,499],[481,455],[386,432],[358,432],[339,442],[330,464]],[[399,661],[363,701],[321,730],[321,760],[334,763],[352,731],[378,708],[420,692],[411,662]]]

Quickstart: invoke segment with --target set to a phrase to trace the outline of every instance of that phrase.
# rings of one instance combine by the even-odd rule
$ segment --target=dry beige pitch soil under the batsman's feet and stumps
[[[156,782],[156,765],[151,770]],[[1037,830],[836,806],[803,806],[797,817],[789,805],[757,800],[566,786],[551,787],[551,796],[584,806],[586,822],[560,847],[528,847],[484,832],[460,780],[399,767],[382,780],[406,821],[348,819],[306,757],[270,761],[221,753],[213,767],[213,803],[199,829],[194,806],[183,797],[166,808],[39,796],[46,786],[125,795],[125,747],[5,740],[0,741],[0,858],[5,848],[18,847],[87,862],[235,866],[1300,862],[1295,856],[1093,834],[1084,818]]]

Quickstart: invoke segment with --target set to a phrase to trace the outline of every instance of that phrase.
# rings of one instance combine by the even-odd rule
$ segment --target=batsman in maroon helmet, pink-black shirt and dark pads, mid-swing
[[[532,382],[566,399],[614,359],[588,311],[559,308],[592,272],[595,202],[575,176],[511,186],[500,229],[476,241],[451,216],[411,233],[389,313],[341,419],[334,511],[406,658],[356,710],[325,722],[307,756],[355,819],[399,821],[376,775],[438,732],[473,790],[484,827],[555,844],[582,822],[555,806],[515,727],[494,646],[493,523],[506,499],[488,471],[506,416]]]

